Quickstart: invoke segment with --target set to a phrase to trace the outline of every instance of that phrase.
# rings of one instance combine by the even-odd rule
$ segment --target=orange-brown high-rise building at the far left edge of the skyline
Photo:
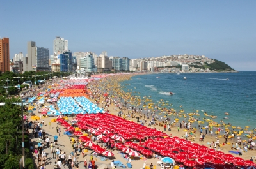
[[[0,38],[0,71],[10,71],[9,38]]]

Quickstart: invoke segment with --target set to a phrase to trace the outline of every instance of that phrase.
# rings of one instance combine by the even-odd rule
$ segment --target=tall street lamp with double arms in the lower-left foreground
[[[28,105],[32,102],[25,102],[23,103],[23,98],[21,96],[21,102],[13,102],[13,103],[0,103],[0,106],[4,106],[5,104],[12,104],[12,105],[20,105],[21,106],[21,130],[22,130],[22,165],[25,168],[25,144],[24,144],[24,118],[23,118],[23,105]]]

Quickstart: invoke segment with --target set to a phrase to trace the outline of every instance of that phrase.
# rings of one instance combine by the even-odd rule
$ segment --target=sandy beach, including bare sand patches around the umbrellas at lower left
[[[87,85],[88,90],[90,90],[90,92],[88,92],[88,99],[90,99],[90,101],[92,101],[92,103],[97,104],[98,107],[103,108],[106,112],[108,112],[109,114],[113,114],[116,116],[120,116],[121,118],[126,119],[127,121],[134,121],[137,122],[138,119],[136,117],[139,117],[139,124],[141,124],[141,122],[143,122],[144,126],[147,126],[148,128],[155,128],[158,131],[163,131],[164,133],[166,133],[168,136],[178,136],[179,138],[186,138],[186,132],[188,133],[188,140],[193,141],[194,143],[198,143],[200,145],[205,145],[207,147],[210,148],[214,148],[215,144],[212,143],[212,141],[216,142],[216,140],[219,140],[219,145],[216,145],[216,151],[223,151],[225,153],[228,153],[228,151],[231,150],[232,147],[232,143],[236,143],[237,139],[236,138],[230,138],[228,139],[228,142],[225,143],[225,138],[223,138],[222,135],[225,134],[221,133],[218,136],[216,136],[216,127],[213,128],[213,134],[211,136],[211,132],[208,132],[207,135],[205,135],[204,141],[200,141],[200,129],[198,128],[198,122],[197,121],[191,121],[191,119],[186,118],[175,118],[175,112],[169,112],[170,114],[172,114],[173,116],[171,116],[171,119],[168,119],[168,121],[170,122],[170,124],[172,123],[172,125],[170,125],[170,129],[171,131],[168,131],[168,129],[166,129],[166,131],[164,130],[164,118],[165,117],[160,117],[160,115],[155,114],[155,118],[159,119],[156,120],[154,122],[154,124],[152,125],[148,125],[149,121],[152,119],[152,112],[148,112],[150,111],[150,108],[148,108],[148,103],[144,104],[145,101],[147,102],[147,99],[149,100],[149,98],[147,98],[147,96],[145,96],[145,98],[140,98],[139,96],[134,96],[132,95],[132,92],[124,92],[122,90],[122,86],[120,85],[121,82],[124,82],[124,80],[129,80],[132,76],[132,74],[127,74],[127,75],[115,75],[115,76],[109,76],[109,77],[104,77],[101,78],[100,80],[93,80],[92,82],[89,82]],[[45,106],[49,107],[49,103],[45,103]],[[143,105],[146,105],[145,107],[143,107]],[[138,107],[142,106],[143,110],[138,110]],[[161,110],[162,114],[164,114],[163,112],[167,112],[168,110]],[[147,119],[147,113],[148,113],[148,119]],[[37,114],[38,116],[40,114]],[[176,115],[177,117],[177,115]],[[49,124],[49,122],[51,122],[51,119],[53,117],[47,117],[44,118],[44,122],[45,124]],[[55,117],[54,117],[55,118]],[[68,121],[72,121],[73,118],[72,117],[67,117]],[[75,117],[74,117],[75,118]],[[178,131],[178,126],[179,123],[181,123],[182,121],[186,121],[186,123],[188,122],[188,120],[191,122],[191,127],[188,128],[180,128]],[[42,120],[39,120],[42,121]],[[147,121],[147,122],[145,122]],[[162,121],[162,122],[161,122]],[[168,122],[168,123],[169,123]],[[175,126],[174,126],[175,123]],[[205,122],[206,123],[206,122]],[[49,127],[49,125],[43,126],[43,129],[45,129],[45,131],[52,137],[56,134],[56,126],[57,123],[56,122],[51,122],[51,127]],[[60,125],[59,125],[60,126]],[[205,126],[205,124],[204,124]],[[63,126],[60,126],[61,131],[64,131],[65,129],[63,128]],[[210,128],[210,126],[209,126]],[[192,135],[189,136],[192,131]],[[194,133],[195,132],[195,133]],[[202,133],[205,134],[205,129],[203,129]],[[88,133],[90,134],[90,133]],[[221,137],[220,137],[221,135]],[[243,140],[245,140],[246,138],[242,137],[242,144],[239,145],[239,147],[243,147]],[[34,138],[36,139],[36,138]],[[53,139],[53,138],[52,138]],[[246,139],[248,140],[248,139]],[[142,140],[143,142],[144,140]],[[67,135],[63,135],[63,133],[61,132],[60,134],[60,146],[63,147],[63,149],[65,149],[66,154],[68,155],[69,152],[73,151],[72,149],[72,145],[70,144],[70,140],[68,138]],[[209,144],[207,144],[209,143]],[[223,145],[223,143],[225,143],[225,145]],[[242,148],[243,149],[243,148]],[[90,152],[89,151],[87,153],[87,156],[85,156],[84,158],[86,159],[90,159]],[[113,151],[113,153],[115,154],[115,160],[120,160],[122,163],[127,163],[127,160],[124,159],[119,151],[115,150]],[[251,156],[253,156],[253,154],[255,153],[255,150],[251,151],[248,150],[248,152],[242,152],[243,155],[239,156],[234,154],[234,156],[239,156],[241,158],[243,158],[244,160],[248,160],[251,158]],[[49,152],[49,155],[51,155],[51,152]],[[82,158],[81,153],[77,154],[77,161],[79,162],[79,167],[83,168],[83,161],[84,158]],[[99,163],[99,165],[101,164],[107,164],[109,165],[111,161],[100,161],[99,158],[94,157],[95,159],[97,159],[97,163]],[[54,161],[56,161],[53,158],[49,158],[49,161],[52,161],[51,163],[54,163]],[[146,159],[146,164],[147,166],[150,165],[150,163],[153,163],[153,165],[157,166],[157,161],[161,161],[160,159],[157,158],[147,158]],[[143,159],[134,159],[132,160],[132,168],[143,168],[143,163],[144,160]],[[46,166],[47,167],[47,166]],[[157,168],[160,168],[159,166],[157,166]]]

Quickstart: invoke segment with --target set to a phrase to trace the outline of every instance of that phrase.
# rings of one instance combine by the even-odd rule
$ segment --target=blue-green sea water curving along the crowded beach
[[[194,117],[201,120],[211,118],[204,115],[207,112],[217,116],[213,120],[219,123],[223,120],[232,126],[256,128],[256,71],[145,74],[122,82],[122,86],[124,91],[132,91],[132,95],[150,96],[154,103],[162,100],[168,103],[162,107],[174,108],[177,112],[181,108],[184,113],[199,110],[200,116]]]

